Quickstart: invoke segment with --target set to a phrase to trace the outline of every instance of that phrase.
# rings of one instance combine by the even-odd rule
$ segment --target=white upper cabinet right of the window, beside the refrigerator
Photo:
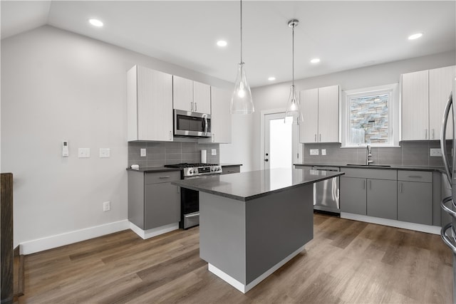
[[[402,140],[440,140],[443,112],[455,77],[455,66],[402,75]],[[452,137],[451,127],[449,123],[447,138]]]

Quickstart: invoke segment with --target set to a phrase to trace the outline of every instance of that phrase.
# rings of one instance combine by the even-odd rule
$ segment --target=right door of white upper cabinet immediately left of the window
[[[318,142],[339,141],[339,86],[318,88]]]

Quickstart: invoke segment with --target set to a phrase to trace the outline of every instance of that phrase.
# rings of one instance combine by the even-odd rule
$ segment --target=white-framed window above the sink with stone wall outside
[[[343,146],[398,145],[398,136],[393,134],[399,120],[397,86],[344,91],[346,117],[343,119]]]

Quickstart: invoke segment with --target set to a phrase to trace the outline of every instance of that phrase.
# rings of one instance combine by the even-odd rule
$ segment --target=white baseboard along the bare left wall
[[[123,221],[115,221],[100,226],[70,231],[64,234],[56,234],[55,236],[46,236],[42,239],[26,241],[19,244],[19,251],[21,254],[31,254],[71,243],[86,241],[98,236],[105,236],[106,234],[113,234],[118,231],[126,230],[129,228],[129,223],[130,222],[125,219]]]

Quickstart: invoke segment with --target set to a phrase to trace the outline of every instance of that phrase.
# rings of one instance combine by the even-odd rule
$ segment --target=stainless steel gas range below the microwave
[[[166,164],[165,167],[180,168],[181,179],[198,178],[210,174],[222,174],[219,164]],[[199,192],[181,188],[180,192],[180,228],[189,229],[199,225]]]

